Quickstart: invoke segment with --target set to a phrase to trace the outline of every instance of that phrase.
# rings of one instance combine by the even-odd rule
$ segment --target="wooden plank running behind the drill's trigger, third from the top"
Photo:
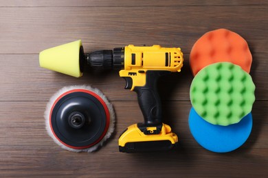
[[[267,55],[254,53],[253,58],[251,75],[256,85],[256,100],[267,100]],[[0,60],[3,66],[12,66],[4,67],[0,71],[0,101],[47,101],[63,86],[83,84],[100,88],[111,101],[137,101],[135,92],[124,90],[125,81],[119,77],[118,71],[101,75],[87,71],[84,76],[77,79],[41,68],[36,54],[0,54]],[[181,73],[159,79],[158,86],[162,100],[190,101],[189,91],[193,77],[188,53],[184,55],[184,60]]]

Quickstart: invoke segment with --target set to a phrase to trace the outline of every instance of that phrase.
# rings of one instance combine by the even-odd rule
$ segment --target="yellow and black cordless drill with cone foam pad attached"
[[[183,53],[180,48],[135,47],[132,44],[113,50],[84,53],[80,40],[42,51],[40,65],[74,77],[82,76],[87,64],[98,71],[120,70],[125,89],[137,92],[144,123],[129,126],[119,138],[122,152],[170,150],[178,137],[169,125],[162,123],[161,101],[157,80],[163,75],[180,72]]]

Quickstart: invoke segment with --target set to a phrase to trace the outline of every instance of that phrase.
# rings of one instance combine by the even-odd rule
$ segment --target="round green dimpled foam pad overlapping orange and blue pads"
[[[218,62],[203,68],[192,80],[190,101],[194,110],[213,125],[238,123],[255,101],[252,77],[240,66]]]

